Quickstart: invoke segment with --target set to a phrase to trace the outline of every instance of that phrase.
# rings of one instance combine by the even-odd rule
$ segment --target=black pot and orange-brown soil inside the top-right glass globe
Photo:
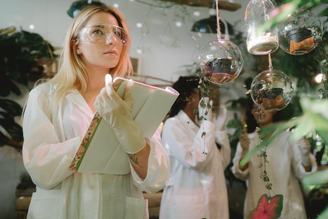
[[[315,46],[311,30],[306,28],[291,30],[286,33],[286,37],[290,45],[290,53],[293,55],[306,54]]]

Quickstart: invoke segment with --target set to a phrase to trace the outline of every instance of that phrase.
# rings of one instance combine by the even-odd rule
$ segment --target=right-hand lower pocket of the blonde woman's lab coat
[[[124,219],[148,219],[148,200],[126,196]]]

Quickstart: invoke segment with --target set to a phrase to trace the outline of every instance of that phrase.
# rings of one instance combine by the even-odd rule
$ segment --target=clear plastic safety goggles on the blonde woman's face
[[[109,24],[84,27],[77,34],[75,39],[88,42],[109,42],[112,39],[123,46],[128,45],[128,35],[126,31],[121,27]]]

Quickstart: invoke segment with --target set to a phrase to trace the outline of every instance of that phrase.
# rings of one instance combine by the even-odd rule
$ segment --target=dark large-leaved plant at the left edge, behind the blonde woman
[[[5,32],[1,30],[0,33]],[[47,64],[54,59],[54,48],[39,34],[26,31],[12,34],[0,34],[0,125],[10,134],[10,137],[20,142],[23,140],[22,128],[15,123],[14,117],[20,116],[21,107],[4,99],[11,92],[21,95],[16,83],[28,85],[29,80],[40,78],[43,72],[42,64]],[[0,146],[8,142],[8,138],[0,133]]]

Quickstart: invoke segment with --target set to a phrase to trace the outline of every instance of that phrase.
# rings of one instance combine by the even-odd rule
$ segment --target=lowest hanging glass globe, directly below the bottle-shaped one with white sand
[[[278,70],[266,70],[258,74],[251,84],[251,97],[261,109],[279,111],[293,97],[292,80]]]

